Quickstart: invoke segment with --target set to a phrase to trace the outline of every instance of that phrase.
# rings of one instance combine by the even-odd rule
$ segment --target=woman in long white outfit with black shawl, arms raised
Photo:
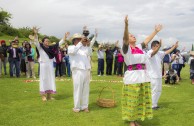
[[[40,54],[40,94],[42,95],[42,100],[47,101],[53,99],[51,94],[56,93],[55,74],[53,68],[54,51],[64,43],[66,38],[69,36],[69,32],[65,33],[64,38],[60,42],[53,46],[49,46],[48,37],[44,37],[42,39],[42,43],[39,43],[37,35],[38,29],[34,27],[33,31],[35,36],[35,45]]]

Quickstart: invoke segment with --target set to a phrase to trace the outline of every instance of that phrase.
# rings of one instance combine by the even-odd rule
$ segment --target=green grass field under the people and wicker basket
[[[0,39],[2,39],[0,37]],[[9,38],[8,38],[9,39]],[[39,95],[39,82],[28,82],[21,78],[0,78],[0,125],[1,126],[127,126],[121,119],[121,77],[97,76],[97,57],[93,56],[93,72],[90,84],[89,113],[73,113],[73,86],[69,77],[63,81],[56,79],[55,100],[42,102]],[[37,64],[36,64],[37,68]],[[37,69],[36,69],[37,70]],[[36,71],[37,73],[37,71]],[[189,80],[189,67],[182,73],[182,80],[176,85],[163,84],[159,100],[159,110],[154,111],[152,120],[140,122],[142,126],[194,126],[194,85]],[[38,79],[37,79],[38,80]],[[97,81],[98,80],[98,81]],[[100,81],[103,80],[103,81]],[[110,86],[117,102],[114,108],[101,108],[96,100],[99,91]],[[112,98],[110,90],[102,97]]]

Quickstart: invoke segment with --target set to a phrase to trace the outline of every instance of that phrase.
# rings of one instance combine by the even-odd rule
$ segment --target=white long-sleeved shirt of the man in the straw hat
[[[68,55],[70,60],[71,70],[81,69],[81,70],[90,70],[90,55],[91,47],[83,46],[79,42],[76,46],[70,45],[68,47]]]

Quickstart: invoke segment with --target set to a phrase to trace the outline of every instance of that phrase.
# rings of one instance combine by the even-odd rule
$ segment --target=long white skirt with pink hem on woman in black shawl
[[[40,62],[40,94],[56,93],[53,61]]]

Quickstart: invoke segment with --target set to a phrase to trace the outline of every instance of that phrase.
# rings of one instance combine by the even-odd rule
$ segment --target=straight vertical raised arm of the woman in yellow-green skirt
[[[125,17],[125,29],[123,35],[123,53],[126,54],[129,48],[128,15]]]

